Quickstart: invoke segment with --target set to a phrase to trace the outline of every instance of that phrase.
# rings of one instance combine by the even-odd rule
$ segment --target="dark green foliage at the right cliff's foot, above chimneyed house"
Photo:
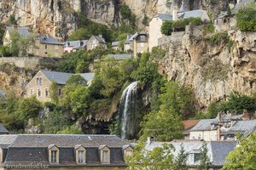
[[[247,96],[238,92],[232,92],[228,101],[213,102],[209,105],[208,113],[214,118],[218,115],[218,111],[230,111],[241,114],[244,110],[253,113],[256,111],[256,97],[254,95]]]

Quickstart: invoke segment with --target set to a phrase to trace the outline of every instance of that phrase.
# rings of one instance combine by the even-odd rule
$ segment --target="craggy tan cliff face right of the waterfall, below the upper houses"
[[[202,36],[187,32],[183,39],[162,48],[160,72],[170,80],[189,85],[200,108],[212,101],[226,99],[236,90],[242,94],[256,91],[256,33],[229,31],[232,47],[221,42],[213,45]]]

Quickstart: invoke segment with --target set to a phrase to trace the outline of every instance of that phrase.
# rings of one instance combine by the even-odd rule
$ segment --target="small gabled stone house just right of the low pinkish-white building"
[[[102,36],[92,36],[86,44],[86,50],[89,51],[96,47],[102,47],[107,49],[107,42]]]

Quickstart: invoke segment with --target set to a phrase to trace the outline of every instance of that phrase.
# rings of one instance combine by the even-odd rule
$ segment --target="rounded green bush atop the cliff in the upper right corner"
[[[236,26],[241,31],[256,31],[256,5],[249,3],[236,14]]]

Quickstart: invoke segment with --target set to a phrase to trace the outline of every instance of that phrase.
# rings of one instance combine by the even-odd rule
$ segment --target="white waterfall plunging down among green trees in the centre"
[[[134,138],[136,133],[137,82],[125,88],[119,105],[121,138]]]

